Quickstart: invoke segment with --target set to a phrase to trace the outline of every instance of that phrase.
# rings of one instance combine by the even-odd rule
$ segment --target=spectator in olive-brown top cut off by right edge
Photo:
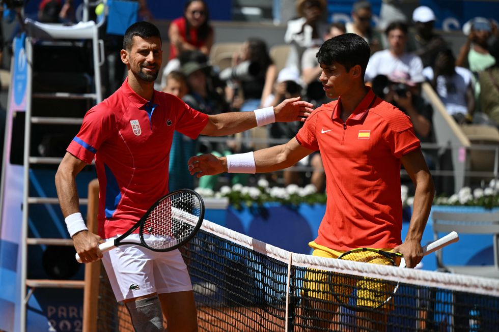
[[[495,64],[479,73],[480,103],[482,112],[499,127],[499,39],[496,39],[489,48]]]

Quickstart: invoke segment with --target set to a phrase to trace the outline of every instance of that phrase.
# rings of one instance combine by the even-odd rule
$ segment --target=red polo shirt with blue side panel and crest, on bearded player
[[[177,97],[154,91],[148,102],[128,85],[87,112],[67,151],[99,178],[99,235],[123,234],[168,193],[174,130],[194,139],[208,116]],[[187,167],[187,165],[185,165]]]

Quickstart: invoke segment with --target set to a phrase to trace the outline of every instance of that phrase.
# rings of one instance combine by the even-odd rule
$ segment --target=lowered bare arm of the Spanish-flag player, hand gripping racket
[[[409,230],[405,241],[394,248],[404,255],[407,267],[416,266],[423,258],[421,238],[430,215],[435,187],[421,149],[414,150],[402,157],[402,164],[415,185],[414,204]]]

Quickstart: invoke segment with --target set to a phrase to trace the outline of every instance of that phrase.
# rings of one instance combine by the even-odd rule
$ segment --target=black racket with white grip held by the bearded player
[[[141,220],[116,239],[99,245],[102,252],[123,245],[143,246],[152,251],[165,252],[186,244],[201,227],[204,218],[204,202],[190,189],[181,189],[158,199]],[[140,243],[126,240],[138,228]],[[81,259],[76,254],[76,260]]]

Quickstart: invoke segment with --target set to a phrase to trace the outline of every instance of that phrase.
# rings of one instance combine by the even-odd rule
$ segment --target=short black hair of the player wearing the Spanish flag
[[[364,79],[370,56],[371,49],[364,38],[356,34],[344,34],[326,40],[317,52],[317,61],[326,66],[338,63],[344,66],[347,72],[353,66],[359,65]]]

